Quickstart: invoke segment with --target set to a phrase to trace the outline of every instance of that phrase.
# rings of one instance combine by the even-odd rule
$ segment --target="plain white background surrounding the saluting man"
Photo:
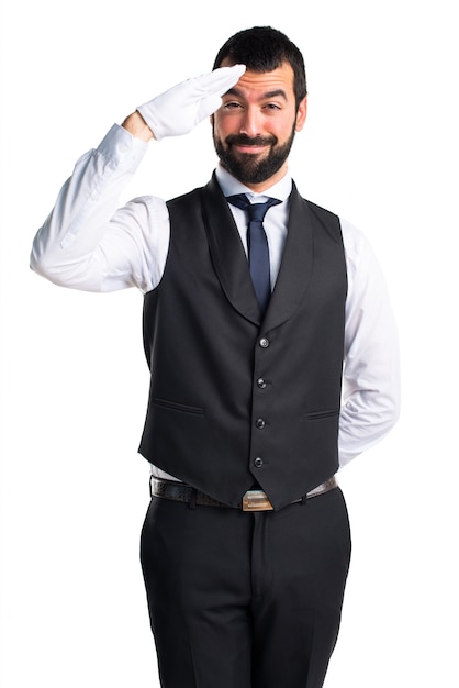
[[[457,3],[25,0],[1,18],[3,688],[158,685],[142,297],[59,289],[29,253],[77,157],[255,24],[303,51],[293,176],[366,232],[400,328],[401,420],[340,479],[354,559],[326,686],[458,686]],[[122,200],[188,191],[214,163],[203,123],[153,144]]]

